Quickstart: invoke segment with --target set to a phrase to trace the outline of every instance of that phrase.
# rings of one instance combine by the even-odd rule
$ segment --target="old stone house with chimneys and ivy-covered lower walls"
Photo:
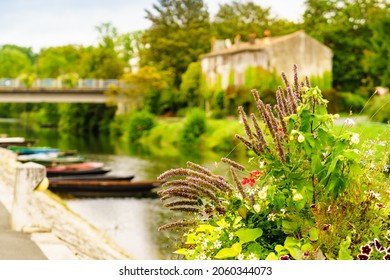
[[[265,35],[256,39],[252,34],[249,42],[241,42],[237,36],[234,44],[230,40],[214,40],[212,51],[200,57],[208,87],[219,84],[218,88],[226,89],[229,85],[247,85],[248,68],[289,74],[293,64],[298,65],[300,75],[324,78],[330,86],[333,56],[330,48],[304,31],[275,37]],[[257,76],[260,77],[256,79],[261,79],[261,75]]]

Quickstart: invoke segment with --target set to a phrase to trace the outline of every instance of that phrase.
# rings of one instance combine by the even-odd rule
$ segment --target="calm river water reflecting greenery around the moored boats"
[[[184,167],[188,159],[186,155],[179,158],[155,158],[139,147],[130,147],[119,139],[110,139],[108,136],[74,137],[63,135],[55,129],[33,130],[9,120],[0,120],[0,134],[37,140],[35,146],[50,146],[62,151],[77,150],[88,160],[104,162],[113,173],[133,174],[134,180],[156,180],[159,174],[170,168]],[[211,168],[213,160],[215,159],[193,159]],[[149,260],[176,257],[172,254],[176,237],[157,229],[179,214],[162,207],[159,199],[63,197],[63,200],[73,211],[100,228],[135,258]]]

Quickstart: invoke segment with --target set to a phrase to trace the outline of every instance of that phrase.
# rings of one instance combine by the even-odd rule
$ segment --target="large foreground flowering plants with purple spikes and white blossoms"
[[[228,178],[192,162],[159,176],[164,205],[188,217],[160,230],[182,233],[186,259],[389,259],[389,149],[335,129],[296,65],[293,83],[282,78],[274,107],[252,90],[260,119],[238,108],[249,168],[222,158]]]

